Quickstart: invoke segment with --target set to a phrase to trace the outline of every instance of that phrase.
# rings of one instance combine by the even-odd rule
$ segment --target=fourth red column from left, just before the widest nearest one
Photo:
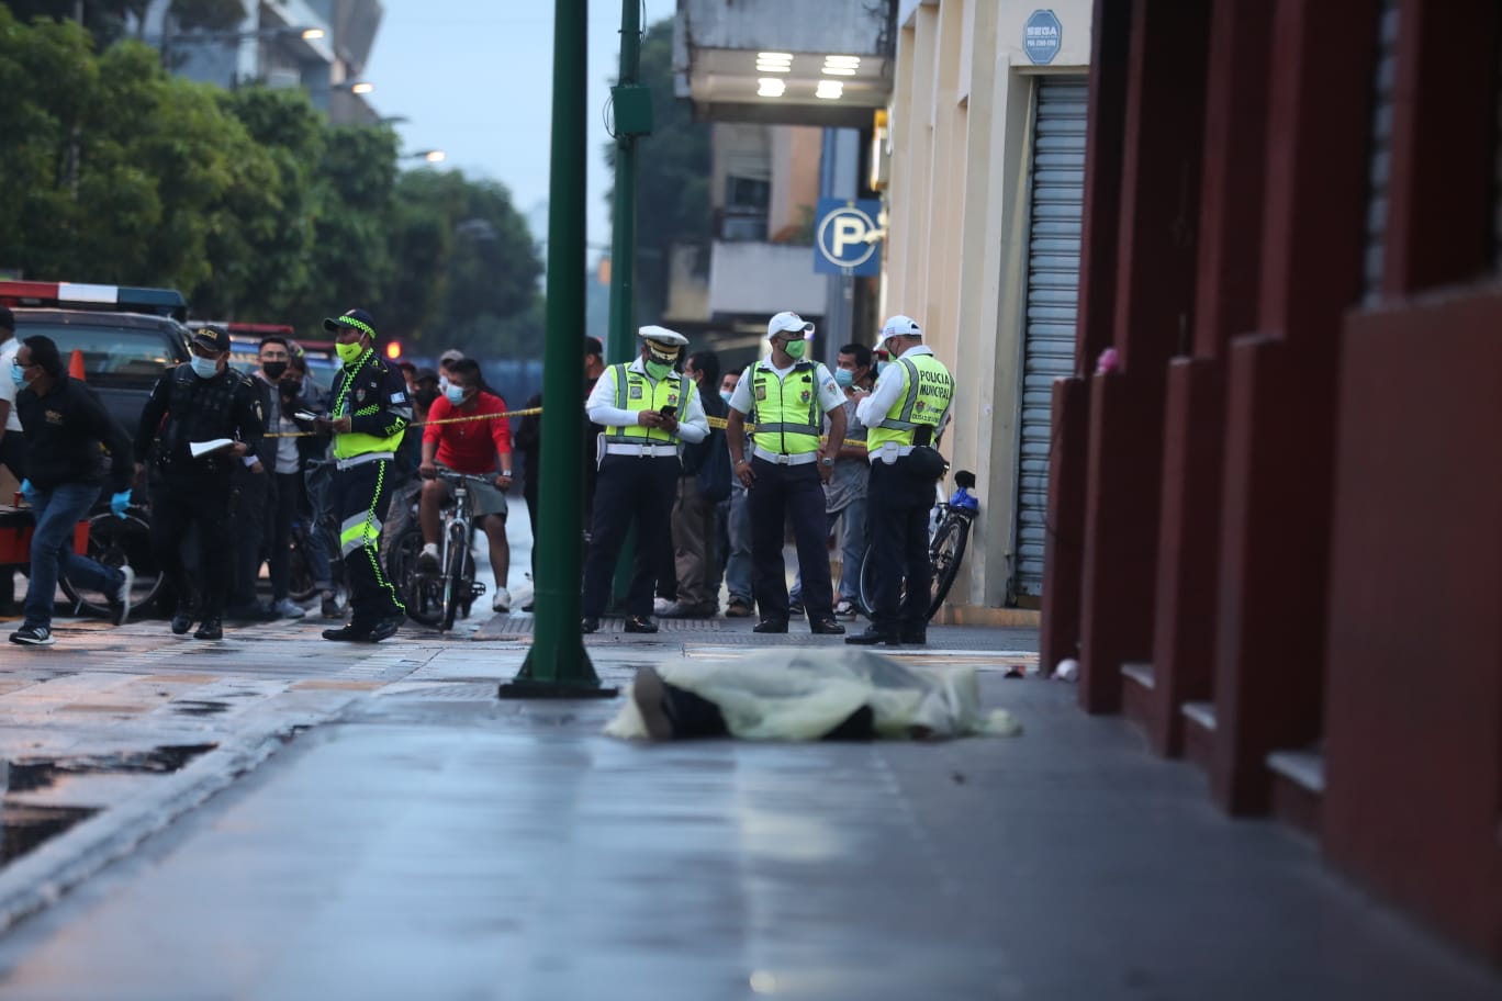
[[[1230,351],[1211,788],[1268,807],[1271,750],[1320,735],[1337,348],[1359,300],[1374,0],[1277,0],[1262,333]]]

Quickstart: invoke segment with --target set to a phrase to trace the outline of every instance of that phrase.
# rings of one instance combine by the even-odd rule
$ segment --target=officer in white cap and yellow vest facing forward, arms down
[[[804,608],[816,633],[840,635],[834,587],[829,582],[829,536],[823,483],[844,441],[844,390],[822,363],[804,356],[814,324],[796,312],[780,312],[766,324],[772,356],[748,365],[730,396],[725,440],[734,474],[751,507],[751,563],[759,633],[787,632],[787,567],[783,566],[783,525],[793,521]],[[745,455],[745,420],[753,414],[751,455]],[[829,440],[820,443],[823,416]]]

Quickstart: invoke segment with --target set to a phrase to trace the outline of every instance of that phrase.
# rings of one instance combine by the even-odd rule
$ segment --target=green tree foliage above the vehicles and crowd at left
[[[0,95],[3,270],[174,287],[195,315],[308,333],[365,306],[416,344],[541,345],[542,264],[506,188],[398,171],[389,128],[189,83],[146,45],[96,53],[86,27],[6,5]]]

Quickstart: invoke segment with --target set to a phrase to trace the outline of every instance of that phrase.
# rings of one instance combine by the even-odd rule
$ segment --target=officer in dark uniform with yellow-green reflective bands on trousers
[[[401,369],[388,366],[371,344],[376,321],[363,309],[323,321],[335,335],[344,368],[333,377],[333,402],[318,431],[333,434],[332,507],[339,519],[339,552],[350,585],[350,621],[324,629],[324,639],[380,642],[401,627],[407,609],[380,564],[380,527],[391,500],[397,449],[412,422]]]

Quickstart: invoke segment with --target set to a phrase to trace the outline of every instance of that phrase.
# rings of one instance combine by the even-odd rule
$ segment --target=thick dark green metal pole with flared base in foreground
[[[538,516],[536,635],[502,698],[613,696],[578,632],[583,492],[580,371],[584,368],[584,107],[589,0],[556,0],[553,21],[553,162],[548,191],[547,344],[542,350],[542,482]]]

